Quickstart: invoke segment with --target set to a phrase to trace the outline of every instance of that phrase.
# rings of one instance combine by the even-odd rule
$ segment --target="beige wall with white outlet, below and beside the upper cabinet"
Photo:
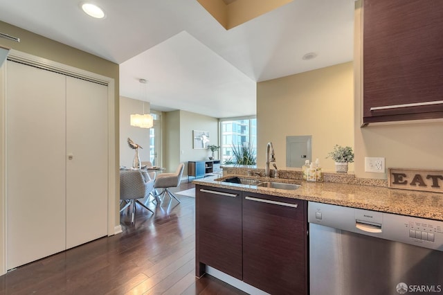
[[[391,123],[360,127],[361,120],[361,1],[355,10],[355,174],[387,178],[385,173],[364,172],[365,157],[385,157],[386,168],[443,169],[443,122]]]

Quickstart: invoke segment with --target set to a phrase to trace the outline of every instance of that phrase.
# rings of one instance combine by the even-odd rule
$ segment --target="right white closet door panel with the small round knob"
[[[108,108],[106,86],[71,77],[66,81],[69,249],[107,235]]]

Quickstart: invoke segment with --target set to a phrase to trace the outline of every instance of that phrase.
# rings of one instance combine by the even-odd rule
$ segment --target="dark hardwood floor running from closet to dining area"
[[[0,276],[0,294],[246,294],[208,275],[195,278],[195,198],[177,197],[181,204],[170,208],[151,203],[154,215],[137,205],[135,224],[121,213],[119,235]]]

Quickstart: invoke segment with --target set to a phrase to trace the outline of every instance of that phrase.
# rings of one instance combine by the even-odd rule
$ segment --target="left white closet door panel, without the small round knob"
[[[7,267],[65,249],[66,78],[16,62],[6,79]]]

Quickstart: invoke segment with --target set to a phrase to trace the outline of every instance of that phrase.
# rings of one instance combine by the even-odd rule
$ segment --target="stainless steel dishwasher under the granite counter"
[[[443,222],[309,202],[311,295],[443,294]]]

